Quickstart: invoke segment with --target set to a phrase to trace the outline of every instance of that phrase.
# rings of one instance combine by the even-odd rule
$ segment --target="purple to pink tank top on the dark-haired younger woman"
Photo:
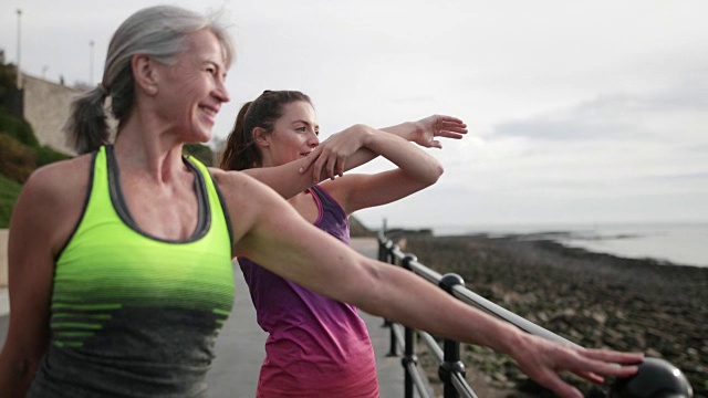
[[[350,243],[340,205],[320,186],[314,226]],[[275,249],[273,249],[275,250]],[[239,264],[269,333],[258,397],[378,397],[376,359],[356,307],[300,287],[247,258]]]

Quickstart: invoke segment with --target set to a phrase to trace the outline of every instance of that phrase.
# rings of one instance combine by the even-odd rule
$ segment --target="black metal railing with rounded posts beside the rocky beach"
[[[457,274],[441,275],[417,261],[410,253],[404,253],[394,243],[394,239],[400,235],[400,231],[386,228],[378,231],[378,260],[404,269],[421,276],[428,282],[439,286],[457,300],[476,306],[500,320],[511,323],[522,331],[546,338],[549,341],[579,346],[566,338],[554,334],[465,287],[465,281]],[[417,366],[418,358],[415,353],[415,335],[425,343],[429,353],[439,364],[438,378],[442,383],[445,398],[477,398],[472,387],[465,379],[465,364],[460,360],[460,343],[451,339],[442,339],[442,347],[436,338],[423,331],[385,321],[391,331],[389,356],[398,356],[398,347],[403,347],[402,365],[404,368],[404,396],[413,398],[414,391],[419,397],[430,397],[427,388],[426,376]],[[690,398],[693,388],[684,374],[673,364],[653,357],[646,357],[638,366],[638,371],[629,378],[614,380],[610,386],[610,398]]]

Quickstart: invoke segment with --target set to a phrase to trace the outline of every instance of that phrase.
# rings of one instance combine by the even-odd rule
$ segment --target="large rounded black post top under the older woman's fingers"
[[[690,398],[694,389],[684,373],[670,363],[647,357],[638,371],[627,378],[617,379],[610,389],[608,398]]]

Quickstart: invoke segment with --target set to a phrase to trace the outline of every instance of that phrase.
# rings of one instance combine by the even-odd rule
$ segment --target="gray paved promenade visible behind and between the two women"
[[[353,239],[352,248],[364,255],[376,258],[375,239]],[[0,253],[6,256],[7,253]],[[217,342],[217,357],[209,374],[210,395],[215,398],[253,397],[258,383],[258,371],[264,357],[266,333],[256,323],[256,312],[248,294],[248,287],[238,266],[233,269],[236,302],[229,321],[221,329]],[[4,344],[7,333],[7,289],[0,287],[0,343]],[[4,310],[3,310],[4,308]],[[400,357],[386,357],[388,353],[388,328],[383,321],[362,313],[376,353],[376,367],[382,398],[403,397],[403,367]]]

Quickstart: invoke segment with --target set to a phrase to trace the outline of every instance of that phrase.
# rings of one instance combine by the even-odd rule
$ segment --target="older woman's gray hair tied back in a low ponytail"
[[[175,6],[157,6],[128,17],[108,45],[103,83],[72,103],[72,114],[64,132],[76,151],[90,153],[108,143],[106,96],[111,97],[110,109],[118,121],[118,130],[131,116],[135,105],[131,66],[134,55],[149,55],[169,65],[185,51],[189,34],[209,29],[221,42],[227,67],[230,66],[235,56],[233,43],[226,25],[219,21],[220,15],[221,12],[216,12],[205,17]]]

